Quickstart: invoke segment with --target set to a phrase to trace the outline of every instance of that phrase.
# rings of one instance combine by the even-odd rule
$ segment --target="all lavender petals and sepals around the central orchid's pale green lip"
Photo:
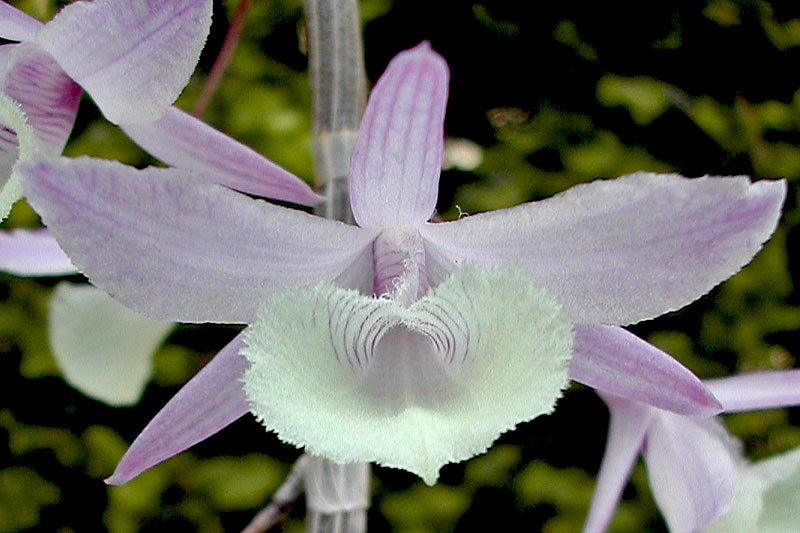
[[[31,203],[73,262],[150,316],[251,323],[264,298],[320,280],[370,294],[375,239],[381,228],[403,227],[417,245],[397,251],[417,257],[421,242],[433,289],[468,263],[489,270],[524,267],[578,332],[583,329],[574,377],[683,413],[717,412],[697,378],[613,326],[682,307],[747,264],[777,224],[785,182],[640,172],[542,202],[431,224],[426,220],[436,203],[447,79],[447,65],[423,43],[392,60],[376,84],[350,177],[351,204],[366,227],[266,206],[174,169],[137,171],[88,159],[41,160],[19,169]],[[389,257],[387,250],[381,254]],[[404,265],[413,263],[422,264]],[[602,364],[581,364],[580,358]],[[209,372],[220,372],[219,365],[213,368]],[[648,381],[654,370],[667,382]],[[190,381],[187,390],[203,383]],[[238,379],[214,384],[218,390],[198,396],[198,412],[215,394],[241,396]],[[669,398],[676,391],[680,401]],[[130,479],[155,464],[153,457],[158,462],[174,455],[241,415],[241,403],[228,403],[205,423],[187,413],[191,399],[179,395],[134,442],[118,467],[125,475],[112,481]],[[202,423],[192,427],[179,415]],[[181,422],[182,432],[165,429],[171,420]],[[159,431],[166,432],[154,434]]]

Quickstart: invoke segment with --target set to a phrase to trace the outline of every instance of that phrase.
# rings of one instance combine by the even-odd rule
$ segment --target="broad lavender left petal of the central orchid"
[[[340,276],[359,287],[372,281],[374,232],[185,171],[85,157],[17,169],[73,264],[156,320],[247,323],[275,290]]]

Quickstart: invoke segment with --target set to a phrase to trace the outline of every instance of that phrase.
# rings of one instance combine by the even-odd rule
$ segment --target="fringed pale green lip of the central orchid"
[[[558,303],[518,268],[464,267],[408,307],[322,283],[265,301],[245,336],[245,392],[284,441],[432,484],[552,411],[572,343]]]

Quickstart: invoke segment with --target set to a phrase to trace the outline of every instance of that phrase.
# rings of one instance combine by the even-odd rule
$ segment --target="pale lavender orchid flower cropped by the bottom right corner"
[[[725,413],[800,405],[800,370],[743,374],[706,385]],[[673,533],[796,531],[798,451],[749,464],[741,443],[714,418],[601,397],[611,422],[585,533],[608,526],[640,450],[656,503]],[[791,501],[795,503],[784,506]],[[786,513],[792,517],[789,528],[780,526],[789,523]]]

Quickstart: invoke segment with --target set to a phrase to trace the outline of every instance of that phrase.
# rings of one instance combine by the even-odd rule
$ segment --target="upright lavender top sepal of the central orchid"
[[[398,54],[369,96],[350,166],[360,226],[427,221],[436,207],[449,72],[424,42]]]

